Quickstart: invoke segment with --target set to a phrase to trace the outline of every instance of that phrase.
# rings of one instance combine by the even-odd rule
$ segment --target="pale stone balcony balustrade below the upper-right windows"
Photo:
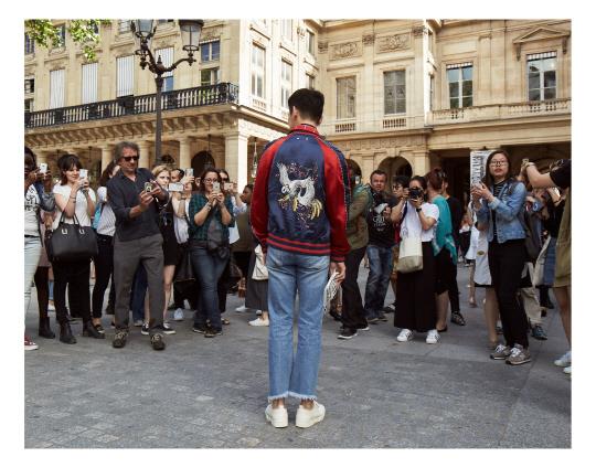
[[[428,113],[427,124],[437,126],[565,114],[571,114],[571,98],[434,110]]]

